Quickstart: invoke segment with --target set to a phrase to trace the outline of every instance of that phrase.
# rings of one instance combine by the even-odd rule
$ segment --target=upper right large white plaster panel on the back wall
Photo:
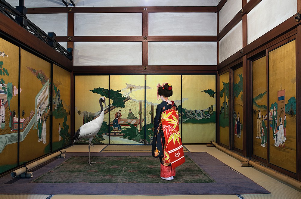
[[[216,13],[149,13],[148,35],[217,35]]]

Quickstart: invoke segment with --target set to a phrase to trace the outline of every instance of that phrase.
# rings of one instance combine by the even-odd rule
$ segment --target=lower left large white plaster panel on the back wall
[[[142,42],[74,42],[75,66],[142,65]]]

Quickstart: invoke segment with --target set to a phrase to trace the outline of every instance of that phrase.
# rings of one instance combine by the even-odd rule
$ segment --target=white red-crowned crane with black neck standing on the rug
[[[85,141],[85,142],[89,143],[89,161],[88,161],[88,163],[90,165],[91,165],[91,163],[95,163],[95,162],[90,161],[90,145],[92,145],[94,147],[94,145],[92,144],[91,141],[92,141],[94,135],[96,135],[98,133],[98,131],[101,128],[101,125],[104,121],[104,107],[102,106],[102,102],[104,102],[104,105],[107,108],[106,98],[102,96],[99,99],[99,104],[100,104],[100,107],[101,107],[100,115],[95,120],[87,122],[87,123],[83,124],[81,127],[79,127],[79,129],[76,131],[76,133],[74,135],[73,144],[78,140],[79,141]],[[82,140],[80,138],[88,138],[89,141]]]

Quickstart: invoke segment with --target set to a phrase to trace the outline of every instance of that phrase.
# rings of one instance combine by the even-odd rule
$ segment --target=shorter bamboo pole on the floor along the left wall
[[[52,158],[54,157],[57,157],[57,156],[60,156],[62,153],[65,153],[66,152],[66,149],[62,149],[61,151],[57,151],[53,154],[50,154],[42,159],[39,159],[33,163],[30,163],[29,165],[26,165],[26,166],[23,166],[21,167],[20,169],[17,169],[17,170],[14,170],[13,172],[11,172],[11,177],[15,178],[17,176],[20,176],[21,174],[25,173],[25,172],[28,172],[30,169],[33,169],[45,162],[47,162],[48,160],[51,160]],[[30,177],[32,178],[33,177],[33,173],[31,173],[32,175],[30,175]],[[22,175],[24,176],[24,175]],[[22,177],[21,176],[21,177]],[[26,176],[26,175],[25,175]],[[28,176],[29,177],[29,176]]]

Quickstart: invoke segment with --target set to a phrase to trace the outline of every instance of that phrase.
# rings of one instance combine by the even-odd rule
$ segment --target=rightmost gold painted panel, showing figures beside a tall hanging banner
[[[268,53],[269,162],[296,173],[296,40]]]

